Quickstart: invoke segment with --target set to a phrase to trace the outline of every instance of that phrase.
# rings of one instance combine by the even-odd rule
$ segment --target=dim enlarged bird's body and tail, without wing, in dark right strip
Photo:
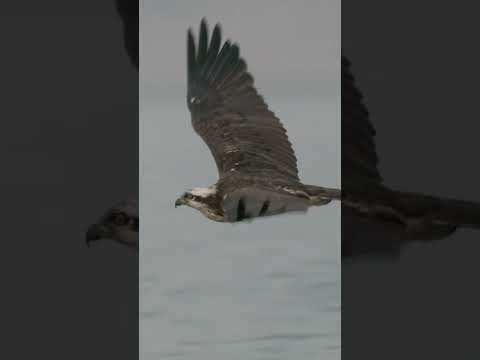
[[[480,227],[480,205],[418,193],[343,189],[342,255],[398,256],[411,242],[440,240]]]

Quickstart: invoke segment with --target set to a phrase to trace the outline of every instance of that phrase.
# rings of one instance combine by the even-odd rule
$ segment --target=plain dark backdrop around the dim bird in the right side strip
[[[480,202],[477,33],[466,4],[342,1],[385,184]],[[397,259],[344,260],[342,359],[478,359],[479,251],[480,232],[460,230]]]

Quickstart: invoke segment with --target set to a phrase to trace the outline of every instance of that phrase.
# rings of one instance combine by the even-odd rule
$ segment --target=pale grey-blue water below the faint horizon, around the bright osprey
[[[141,111],[141,359],[340,359],[340,206],[234,225],[175,209],[217,176],[181,100]],[[318,105],[277,107],[305,182],[338,186],[337,104],[323,122]]]

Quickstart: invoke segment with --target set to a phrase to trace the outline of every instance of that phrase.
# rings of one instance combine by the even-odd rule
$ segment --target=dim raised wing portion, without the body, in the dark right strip
[[[377,168],[375,129],[363,103],[363,96],[342,56],[342,179],[356,185],[380,184]]]

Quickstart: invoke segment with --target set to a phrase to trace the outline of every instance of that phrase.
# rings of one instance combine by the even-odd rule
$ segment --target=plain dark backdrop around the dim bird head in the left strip
[[[0,357],[138,358],[138,253],[85,246],[90,223],[138,196],[138,72],[118,8],[3,2],[0,14]]]

